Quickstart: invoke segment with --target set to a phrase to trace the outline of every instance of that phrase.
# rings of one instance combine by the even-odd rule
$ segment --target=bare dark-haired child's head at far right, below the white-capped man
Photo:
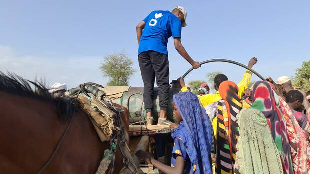
[[[285,100],[292,109],[298,110],[303,106],[304,95],[299,90],[292,89],[286,94]]]

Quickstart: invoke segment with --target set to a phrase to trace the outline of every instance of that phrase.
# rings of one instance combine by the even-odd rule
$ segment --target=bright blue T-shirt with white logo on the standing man
[[[181,37],[181,21],[170,11],[152,11],[145,19],[140,38],[138,54],[144,51],[157,51],[168,55],[168,38]]]

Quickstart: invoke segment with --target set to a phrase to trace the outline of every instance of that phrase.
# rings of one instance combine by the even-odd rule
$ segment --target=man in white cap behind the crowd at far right
[[[288,76],[281,76],[278,78],[277,80],[277,84],[280,86],[280,92],[286,96],[286,94],[291,91],[293,88],[293,85],[292,85],[292,81],[291,79],[288,77]],[[300,90],[299,90],[300,91]],[[306,109],[306,111],[310,108],[310,103],[309,101],[307,100],[306,98],[306,95],[303,91],[300,91],[303,93],[304,95],[304,102],[303,102],[303,105]]]

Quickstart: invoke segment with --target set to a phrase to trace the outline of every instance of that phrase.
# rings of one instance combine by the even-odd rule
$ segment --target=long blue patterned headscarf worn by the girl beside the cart
[[[213,129],[205,109],[201,108],[199,99],[191,92],[175,94],[173,100],[183,121],[171,136],[180,137],[184,142],[186,153],[192,165],[196,166],[195,173],[212,174],[209,156]]]

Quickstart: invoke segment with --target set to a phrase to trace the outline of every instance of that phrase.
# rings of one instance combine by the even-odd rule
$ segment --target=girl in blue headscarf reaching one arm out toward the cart
[[[180,124],[171,134],[174,138],[171,167],[144,151],[138,151],[136,155],[166,174],[212,174],[213,129],[208,115],[191,92],[175,94],[173,100],[173,114]]]

